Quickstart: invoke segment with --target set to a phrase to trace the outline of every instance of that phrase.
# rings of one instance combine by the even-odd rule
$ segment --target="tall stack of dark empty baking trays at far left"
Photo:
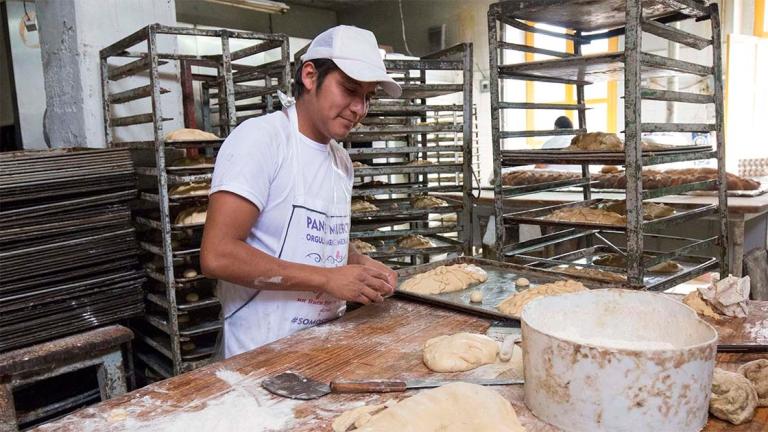
[[[137,316],[124,150],[0,154],[0,352]]]

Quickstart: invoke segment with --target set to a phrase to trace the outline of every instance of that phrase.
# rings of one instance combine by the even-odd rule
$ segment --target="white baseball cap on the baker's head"
[[[403,90],[387,75],[379,53],[376,36],[353,26],[336,26],[312,39],[301,61],[330,59],[350,78],[361,82],[377,82],[384,91],[399,97]]]

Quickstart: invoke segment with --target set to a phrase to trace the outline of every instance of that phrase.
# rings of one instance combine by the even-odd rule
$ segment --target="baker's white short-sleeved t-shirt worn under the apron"
[[[297,172],[289,143],[290,128],[288,117],[281,111],[240,124],[222,144],[211,182],[211,194],[232,192],[259,208],[259,218],[246,243],[275,257],[280,253],[281,236],[291,216],[297,177],[302,176],[308,196],[327,202],[333,201],[335,188],[331,184],[334,176],[338,178],[330,145],[304,135],[297,155]],[[347,181],[351,188],[352,162],[346,152],[343,157],[343,165],[350,167]],[[220,281],[217,294],[224,316],[235,312],[254,293],[252,288]],[[253,301],[259,301],[259,297]]]

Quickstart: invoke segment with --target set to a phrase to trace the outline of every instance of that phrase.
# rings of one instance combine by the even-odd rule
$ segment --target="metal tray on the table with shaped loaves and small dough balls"
[[[400,275],[400,282],[402,283],[413,275],[424,273],[443,265],[465,263],[474,264],[485,270],[488,273],[488,280],[462,291],[432,295],[422,295],[402,291],[398,287],[395,290],[395,295],[398,297],[417,300],[435,306],[458,310],[485,318],[506,321],[519,321],[516,318],[503,314],[498,309],[496,309],[496,306],[499,303],[517,292],[515,281],[518,278],[524,277],[528,279],[531,283],[531,288],[543,283],[550,283],[567,279],[579,281],[588,288],[616,287],[616,284],[598,282],[580,277],[566,277],[560,273],[555,273],[548,270],[536,269],[518,264],[502,263],[475,257],[456,257],[442,261],[435,261],[429,264],[403,268],[398,270],[397,273]],[[474,290],[481,290],[483,292],[482,304],[471,303],[469,301],[469,295]]]

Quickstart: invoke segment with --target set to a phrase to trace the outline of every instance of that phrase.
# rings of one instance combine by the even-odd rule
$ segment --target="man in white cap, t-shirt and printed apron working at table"
[[[219,151],[200,263],[219,280],[224,357],[391,294],[397,274],[349,244],[352,162],[336,141],[387,75],[370,31],[338,26],[301,57],[295,105],[247,120]]]

